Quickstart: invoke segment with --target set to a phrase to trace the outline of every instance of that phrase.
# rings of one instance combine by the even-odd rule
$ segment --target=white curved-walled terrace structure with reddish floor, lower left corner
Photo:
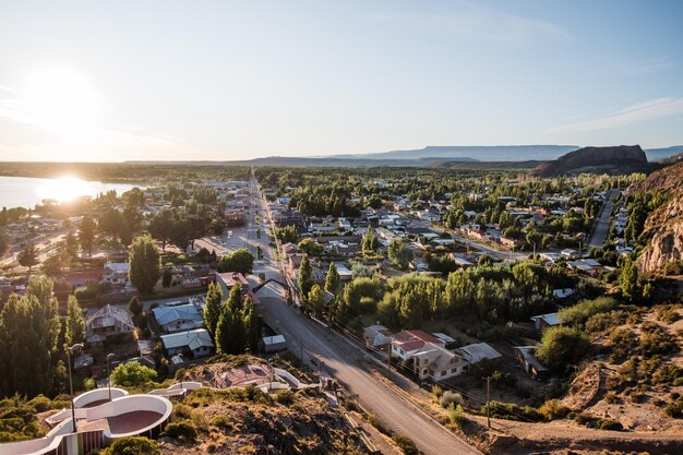
[[[108,391],[107,399],[109,397]],[[120,390],[119,390],[120,391]],[[111,402],[76,409],[77,433],[73,433],[71,410],[69,417],[47,435],[31,441],[0,444],[0,455],[80,455],[92,448],[105,446],[111,440],[135,435],[154,435],[160,432],[170,419],[173,405],[163,396],[128,395],[118,392]],[[86,397],[82,394],[81,405],[98,402],[99,394]],[[112,390],[113,396],[113,390]],[[83,405],[85,403],[85,405]],[[59,414],[61,414],[60,411]]]

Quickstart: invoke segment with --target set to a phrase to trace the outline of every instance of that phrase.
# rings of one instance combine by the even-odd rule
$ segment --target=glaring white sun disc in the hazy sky
[[[24,91],[35,123],[58,133],[87,132],[97,123],[99,97],[89,80],[70,68],[33,73]]]

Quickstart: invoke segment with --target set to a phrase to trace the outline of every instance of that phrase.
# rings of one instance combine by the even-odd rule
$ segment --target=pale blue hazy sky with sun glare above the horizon
[[[0,0],[0,160],[679,145],[681,24],[678,0]]]

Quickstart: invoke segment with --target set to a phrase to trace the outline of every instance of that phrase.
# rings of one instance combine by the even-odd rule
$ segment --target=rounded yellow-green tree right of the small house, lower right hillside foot
[[[588,337],[574,327],[554,326],[543,332],[536,357],[558,373],[577,363],[588,351]]]

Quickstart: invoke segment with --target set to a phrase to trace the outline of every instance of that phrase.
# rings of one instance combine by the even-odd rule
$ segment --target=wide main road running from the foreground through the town
[[[255,190],[257,191],[257,189]],[[265,201],[257,197],[257,213],[265,220]],[[269,250],[266,229],[259,242]],[[266,277],[283,279],[278,264],[267,251]],[[268,285],[259,292],[260,311],[268,325],[285,335],[288,348],[303,355],[304,361],[312,358],[322,361],[323,373],[343,384],[358,402],[394,431],[410,438],[426,454],[480,454],[452,432],[428,417],[422,410],[398,396],[386,385],[376,382],[362,364],[363,354],[350,346],[340,335],[328,334],[322,325],[301,314],[296,307],[284,302],[281,290]],[[329,337],[329,340],[327,339]]]

